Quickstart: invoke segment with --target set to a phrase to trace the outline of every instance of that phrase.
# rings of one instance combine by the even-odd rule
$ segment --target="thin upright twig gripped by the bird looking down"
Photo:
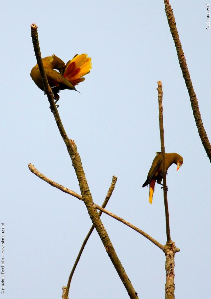
[[[166,215],[166,237],[167,243],[171,242],[168,201],[167,201],[167,187],[166,187],[166,162],[165,162],[165,145],[164,145],[164,129],[163,129],[163,90],[162,82],[158,81],[158,106],[159,106],[159,128],[160,128],[160,145],[162,153],[162,173],[163,173],[163,197]]]

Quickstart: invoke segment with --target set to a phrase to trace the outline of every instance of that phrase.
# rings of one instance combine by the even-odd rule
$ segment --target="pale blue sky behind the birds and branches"
[[[204,127],[211,141],[210,48],[204,1],[170,1]],[[38,25],[42,57],[92,57],[78,90],[61,91],[59,113],[77,144],[93,200],[166,241],[162,190],[153,204],[142,188],[160,150],[157,81],[163,85],[166,152],[182,167],[168,170],[177,299],[210,296],[210,162],[198,136],[163,1],[4,2],[1,16],[1,222],[5,222],[5,294],[60,298],[91,227],[83,202],[49,186],[28,163],[79,193],[78,182],[44,93],[30,78],[36,64],[30,24]],[[103,224],[139,298],[164,298],[165,255],[125,225]],[[90,288],[90,285],[92,288]],[[93,289],[93,291],[92,291]],[[29,295],[30,294],[30,295]],[[185,295],[185,296],[184,296]],[[94,231],[77,266],[70,298],[128,298]]]

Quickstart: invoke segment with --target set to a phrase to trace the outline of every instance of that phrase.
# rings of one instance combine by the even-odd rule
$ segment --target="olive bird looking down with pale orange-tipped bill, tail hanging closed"
[[[156,156],[152,162],[152,166],[149,170],[147,179],[145,183],[143,184],[142,187],[150,185],[150,191],[149,191],[149,202],[152,204],[152,197],[153,197],[153,192],[155,189],[155,182],[157,181],[158,184],[161,184],[161,181],[163,179],[162,176],[162,154],[161,152],[156,152]],[[177,165],[177,170],[183,163],[183,158],[178,155],[176,152],[172,152],[170,154],[165,153],[165,164],[166,164],[166,171],[168,168],[171,166],[171,164],[176,164]]]

